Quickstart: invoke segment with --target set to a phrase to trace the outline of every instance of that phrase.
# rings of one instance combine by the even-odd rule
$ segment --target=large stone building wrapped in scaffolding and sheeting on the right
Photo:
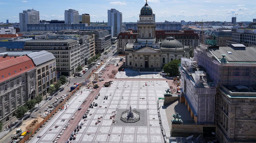
[[[195,124],[220,142],[256,140],[256,47],[199,45],[182,58],[181,98]]]

